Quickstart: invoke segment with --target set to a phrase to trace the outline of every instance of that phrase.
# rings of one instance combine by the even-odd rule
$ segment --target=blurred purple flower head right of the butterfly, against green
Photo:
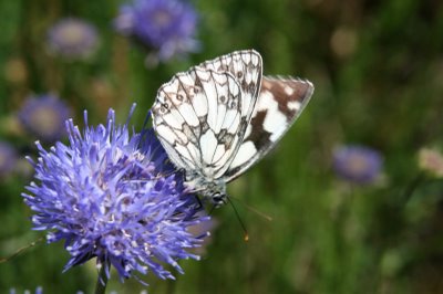
[[[382,161],[377,150],[363,146],[342,146],[333,151],[336,174],[354,183],[375,181],[381,172]]]

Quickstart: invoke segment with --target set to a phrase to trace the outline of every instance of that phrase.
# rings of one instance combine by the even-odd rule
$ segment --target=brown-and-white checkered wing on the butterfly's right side
[[[229,169],[227,181],[264,157],[298,118],[313,93],[313,85],[299,78],[264,76],[251,119]]]

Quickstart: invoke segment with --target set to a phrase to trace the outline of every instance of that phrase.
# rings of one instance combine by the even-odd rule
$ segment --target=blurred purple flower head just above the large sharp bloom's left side
[[[64,136],[64,122],[69,116],[70,108],[54,95],[29,97],[18,114],[23,128],[43,141],[54,141]]]

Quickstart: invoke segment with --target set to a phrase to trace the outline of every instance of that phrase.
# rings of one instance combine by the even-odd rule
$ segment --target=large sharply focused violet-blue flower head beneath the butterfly
[[[164,264],[183,273],[179,259],[198,259],[188,250],[206,233],[187,228],[208,217],[196,214],[202,206],[184,191],[153,132],[130,135],[127,123],[114,122],[110,111],[106,126],[89,127],[85,114],[83,134],[66,123],[69,145],[47,151],[38,144],[37,181],[23,193],[33,228],[49,231],[49,242],[65,241],[65,270],[96,256],[97,267],[109,275],[113,265],[122,280],[148,271],[174,279]]]

